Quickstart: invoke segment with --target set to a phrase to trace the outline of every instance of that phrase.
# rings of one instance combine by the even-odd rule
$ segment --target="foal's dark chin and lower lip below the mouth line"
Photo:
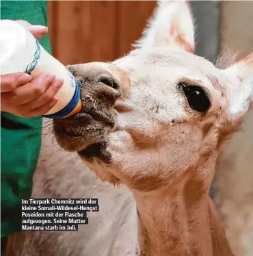
[[[111,127],[101,120],[79,114],[71,119],[54,120],[53,130],[59,146],[65,151],[77,152],[85,162],[110,164],[107,136]]]

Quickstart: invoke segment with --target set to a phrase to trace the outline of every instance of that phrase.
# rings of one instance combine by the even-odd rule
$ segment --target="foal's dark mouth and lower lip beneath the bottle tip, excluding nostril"
[[[89,159],[105,151],[108,133],[115,127],[116,111],[113,108],[110,112],[82,111],[69,118],[53,120],[59,146]]]

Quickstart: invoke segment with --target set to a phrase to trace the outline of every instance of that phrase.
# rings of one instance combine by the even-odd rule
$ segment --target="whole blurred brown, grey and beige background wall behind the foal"
[[[196,54],[214,62],[222,49],[253,52],[253,1],[190,1]],[[122,57],[141,36],[156,1],[49,1],[53,55],[63,64]],[[253,71],[252,71],[253,72]],[[235,255],[253,255],[253,111],[222,149],[211,196]]]

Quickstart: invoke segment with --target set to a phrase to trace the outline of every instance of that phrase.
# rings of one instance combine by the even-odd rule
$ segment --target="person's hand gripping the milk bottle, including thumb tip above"
[[[31,25],[27,21],[16,21],[37,39],[46,35],[48,28]],[[55,94],[62,87],[62,79],[54,75],[41,74],[31,79],[25,73],[1,75],[1,111],[15,116],[31,118],[46,114],[57,103]]]

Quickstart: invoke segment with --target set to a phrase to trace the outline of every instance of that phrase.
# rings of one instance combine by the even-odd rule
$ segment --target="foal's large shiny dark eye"
[[[192,86],[189,84],[179,84],[183,88],[183,92],[187,97],[189,106],[198,112],[207,112],[211,106],[209,94],[204,91],[200,86]]]

